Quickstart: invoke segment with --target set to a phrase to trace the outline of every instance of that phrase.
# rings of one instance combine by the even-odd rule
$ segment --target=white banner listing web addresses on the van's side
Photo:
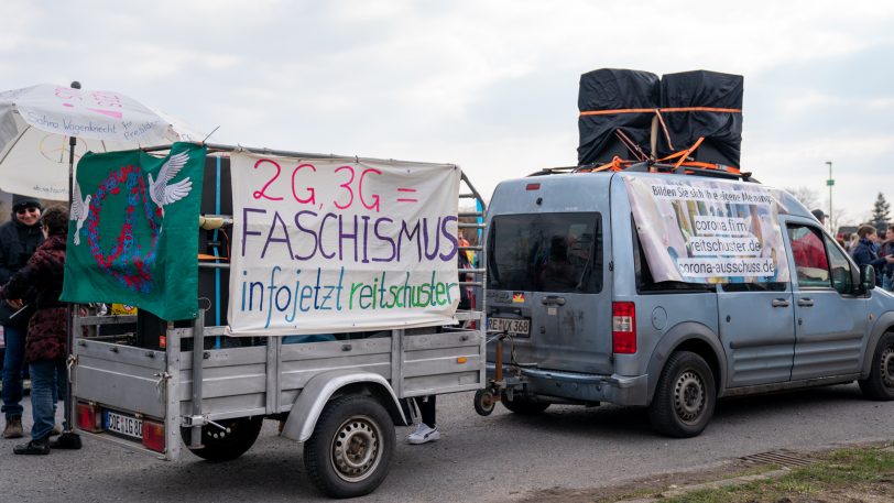
[[[691,177],[622,177],[654,281],[788,281],[771,189]]]

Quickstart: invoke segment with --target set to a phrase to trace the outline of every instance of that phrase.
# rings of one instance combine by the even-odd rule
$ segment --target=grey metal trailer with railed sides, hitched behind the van
[[[219,173],[226,160],[220,153],[235,147],[208,147],[206,164]],[[475,201],[477,210],[459,214],[458,227],[483,229],[484,203],[465,174],[461,182],[458,197]],[[220,179],[214,184],[219,209]],[[231,221],[227,215],[206,218],[225,227]],[[486,263],[482,247],[459,249]],[[484,386],[483,269],[459,270],[459,286],[478,292],[478,306],[457,310],[455,325],[391,327],[291,343],[282,336],[230,337],[226,324],[207,324],[220,320],[215,296],[227,287],[219,274],[228,266],[199,261],[200,271],[217,274],[209,284],[218,289],[200,288],[194,321],[166,322],[148,313],[74,316],[70,374],[79,431],[165,460],[181,459],[186,449],[226,461],[251,447],[264,418],[275,419],[283,437],[304,442],[305,466],[317,486],[329,496],[349,497],[384,480],[396,441],[393,426],[412,424],[416,414],[407,398]]]

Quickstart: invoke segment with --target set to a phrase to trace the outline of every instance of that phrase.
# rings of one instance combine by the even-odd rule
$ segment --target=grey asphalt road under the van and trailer
[[[30,427],[30,407],[25,411]],[[362,502],[503,502],[538,490],[588,489],[642,475],[716,466],[777,449],[894,439],[894,402],[868,402],[855,384],[721,401],[699,437],[656,436],[643,409],[553,406],[521,417],[498,406],[478,416],[471,394],[441,396],[438,442],[399,449],[385,482]],[[212,464],[177,463],[86,439],[80,451],[19,457],[0,439],[3,502],[329,501],[310,484],[302,446],[266,422],[252,449]]]

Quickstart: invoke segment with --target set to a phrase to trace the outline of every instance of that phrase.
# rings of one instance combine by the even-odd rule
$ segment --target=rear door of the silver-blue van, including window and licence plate
[[[516,361],[611,373],[611,303],[603,285],[602,216],[494,216],[488,239],[489,329],[515,332]]]

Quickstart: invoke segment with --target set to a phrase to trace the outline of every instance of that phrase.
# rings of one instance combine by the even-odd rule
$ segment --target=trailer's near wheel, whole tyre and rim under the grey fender
[[[393,422],[382,404],[346,395],[326,404],[304,444],[304,464],[327,496],[362,496],[385,480],[394,446]]]

